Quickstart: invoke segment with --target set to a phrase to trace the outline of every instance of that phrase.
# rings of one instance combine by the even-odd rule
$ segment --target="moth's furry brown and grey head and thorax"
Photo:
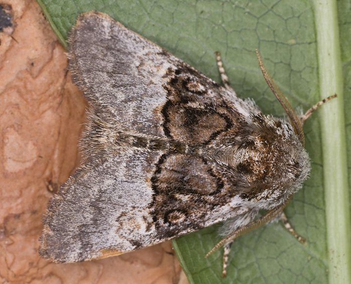
[[[241,198],[262,200],[271,206],[301,188],[310,162],[289,122],[255,114],[238,137],[235,150],[227,157],[235,179],[240,181],[237,186]]]

